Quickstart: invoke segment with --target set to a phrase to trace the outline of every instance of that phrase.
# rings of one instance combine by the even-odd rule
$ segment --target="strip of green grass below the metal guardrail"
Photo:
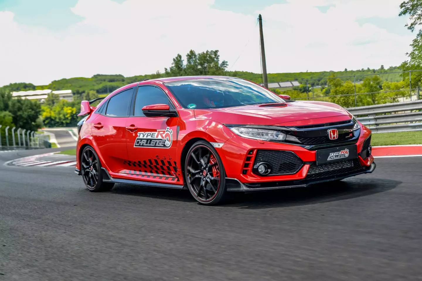
[[[422,131],[372,134],[371,145],[421,145]]]

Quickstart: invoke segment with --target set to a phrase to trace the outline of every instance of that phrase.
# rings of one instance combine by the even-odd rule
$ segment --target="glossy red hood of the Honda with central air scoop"
[[[352,118],[343,107],[330,102],[295,101],[217,109],[195,109],[195,118],[223,124],[303,126]]]

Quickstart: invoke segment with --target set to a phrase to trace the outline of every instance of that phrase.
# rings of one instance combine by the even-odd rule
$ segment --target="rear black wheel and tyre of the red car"
[[[100,192],[111,190],[114,182],[103,182],[101,162],[94,148],[87,146],[81,153],[81,175],[87,190]]]

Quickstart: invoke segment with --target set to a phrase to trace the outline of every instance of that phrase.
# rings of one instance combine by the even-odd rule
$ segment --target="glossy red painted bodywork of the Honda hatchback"
[[[246,157],[248,157],[247,153],[258,149],[286,150],[295,153],[303,162],[315,162],[316,151],[287,143],[243,138],[234,134],[224,124],[304,126],[339,122],[352,118],[349,112],[337,104],[316,101],[295,101],[283,103],[276,107],[265,107],[258,104],[207,110],[186,109],[181,107],[176,98],[164,85],[165,82],[170,81],[210,77],[219,78],[218,76],[198,76],[146,80],[129,84],[108,95],[106,99],[100,102],[97,108],[100,108],[112,96],[127,88],[154,85],[167,94],[176,108],[178,116],[110,117],[95,112],[97,111],[95,108],[90,108],[87,113],[89,116],[79,134],[76,168],[80,169],[79,153],[81,147],[91,145],[97,152],[102,166],[108,170],[111,177],[184,185],[182,173],[184,166],[182,163],[185,159],[182,159],[182,152],[184,148],[189,148],[186,146],[190,140],[203,139],[208,142],[224,143],[222,147],[216,148],[216,151],[222,159],[227,177],[235,178],[245,183],[299,180],[306,177],[310,167],[308,163],[305,163],[296,174],[292,175],[261,177],[254,174],[252,169],[243,174],[244,163]],[[84,103],[84,108],[85,106],[86,103]],[[143,107],[143,109],[168,110],[169,106],[166,104],[152,104]],[[133,108],[131,112],[133,112]],[[360,136],[357,141],[358,153],[362,150],[365,139],[371,134],[368,128],[362,124],[360,125]],[[168,131],[166,131],[167,128]],[[140,147],[136,145],[155,145],[160,141],[169,139],[171,139],[169,147]],[[160,142],[160,144],[162,143]],[[420,149],[422,153],[422,147]],[[151,171],[140,171],[141,167],[136,165],[141,165],[143,161],[149,159],[156,160],[158,164],[154,163],[154,169],[151,169]],[[129,163],[128,161],[132,163],[130,166],[127,164]],[[170,171],[167,166],[161,165],[161,163],[167,161],[170,161],[172,165],[174,163],[176,171]],[[365,160],[360,158],[360,162],[365,166],[371,165],[372,161],[372,157]],[[251,165],[252,163],[253,160]],[[151,174],[154,177],[148,176]],[[163,176],[159,177],[160,175]]]

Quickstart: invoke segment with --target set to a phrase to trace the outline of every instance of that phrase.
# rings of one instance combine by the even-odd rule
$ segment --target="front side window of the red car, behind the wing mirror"
[[[154,86],[141,86],[138,87],[138,93],[135,98],[135,116],[145,116],[142,112],[142,107],[151,104],[168,104],[170,108],[172,105],[168,100],[166,94],[157,87]]]

